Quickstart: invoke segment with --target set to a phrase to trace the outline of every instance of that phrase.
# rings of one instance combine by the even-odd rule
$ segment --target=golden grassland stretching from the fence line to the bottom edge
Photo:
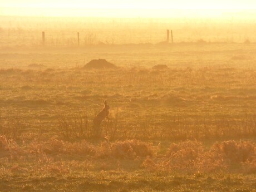
[[[2,49],[0,191],[255,191],[255,55],[253,43]],[[85,70],[95,58],[119,68]]]

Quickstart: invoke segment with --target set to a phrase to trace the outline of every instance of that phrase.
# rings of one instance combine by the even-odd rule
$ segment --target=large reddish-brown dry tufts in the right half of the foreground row
[[[147,158],[142,167],[153,171],[213,173],[237,171],[255,173],[256,145],[249,141],[215,142],[205,151],[198,141],[171,144],[164,157]]]

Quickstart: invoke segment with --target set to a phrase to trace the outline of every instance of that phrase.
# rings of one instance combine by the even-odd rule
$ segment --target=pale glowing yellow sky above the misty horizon
[[[255,10],[255,0],[0,0],[0,15],[16,16],[219,17]]]

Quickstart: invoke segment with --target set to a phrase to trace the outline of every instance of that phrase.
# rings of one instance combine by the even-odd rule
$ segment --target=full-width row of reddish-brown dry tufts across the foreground
[[[0,136],[2,155],[22,159],[30,155],[46,156],[91,156],[96,159],[144,159],[142,168],[169,173],[216,173],[219,171],[255,173],[256,144],[250,141],[215,142],[209,150],[198,141],[183,141],[171,144],[165,155],[158,155],[151,143],[138,140],[101,142],[93,145],[80,142],[64,142],[57,139],[32,141],[18,146],[6,136]]]

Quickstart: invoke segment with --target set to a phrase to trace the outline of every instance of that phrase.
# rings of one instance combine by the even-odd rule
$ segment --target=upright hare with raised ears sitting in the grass
[[[93,131],[94,131],[94,136],[99,137],[101,135],[101,122],[104,119],[109,120],[109,105],[107,105],[107,101],[103,101],[104,103],[104,108],[99,112],[99,114],[93,119]]]

